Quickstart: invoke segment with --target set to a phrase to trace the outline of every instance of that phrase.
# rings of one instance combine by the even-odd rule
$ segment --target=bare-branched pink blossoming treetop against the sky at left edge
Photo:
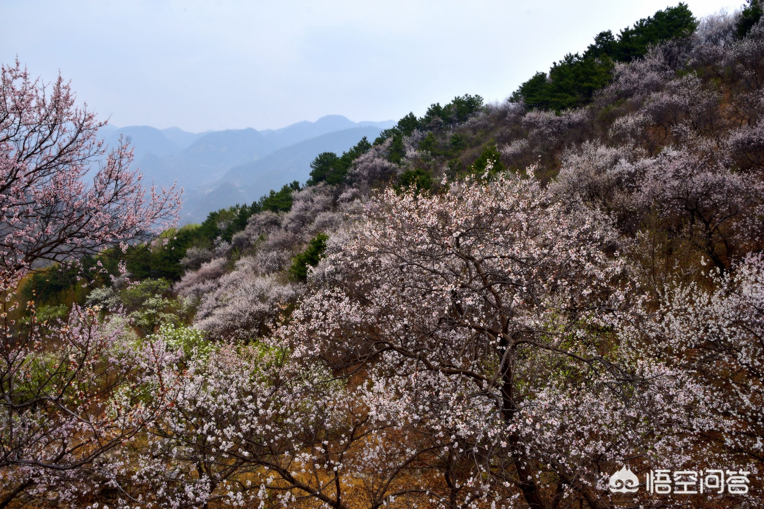
[[[176,221],[180,192],[144,186],[141,174],[129,168],[128,145],[107,152],[99,141],[97,131],[103,125],[86,107],[76,107],[69,84],[60,76],[44,86],[18,61],[2,66],[4,271],[21,277],[35,261],[76,263],[83,254],[150,239]]]

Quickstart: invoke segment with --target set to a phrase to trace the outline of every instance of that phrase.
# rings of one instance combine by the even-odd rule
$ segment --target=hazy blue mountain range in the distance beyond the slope
[[[342,115],[327,115],[316,122],[297,122],[280,129],[252,128],[191,133],[180,128],[147,125],[106,126],[109,145],[120,136],[134,148],[135,163],[147,182],[157,186],[183,186],[182,223],[200,222],[207,213],[251,203],[285,183],[304,183],[309,164],[321,152],[341,154],[364,136],[373,141],[384,122],[352,122]]]

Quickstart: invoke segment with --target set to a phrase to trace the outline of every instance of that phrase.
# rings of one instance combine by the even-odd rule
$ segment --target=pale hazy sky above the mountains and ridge
[[[503,99],[594,34],[667,0],[0,0],[0,61],[71,79],[113,125],[279,128]],[[688,0],[700,17],[742,0]],[[670,5],[676,5],[671,2]]]

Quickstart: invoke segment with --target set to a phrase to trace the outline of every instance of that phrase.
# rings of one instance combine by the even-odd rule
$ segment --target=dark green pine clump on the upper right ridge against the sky
[[[549,76],[536,73],[513,92],[510,101],[522,99],[529,108],[556,111],[585,105],[594,92],[610,83],[613,61],[642,57],[651,44],[688,37],[697,26],[690,9],[680,3],[640,19],[618,37],[611,31],[600,32],[583,55],[568,53],[552,64]]]

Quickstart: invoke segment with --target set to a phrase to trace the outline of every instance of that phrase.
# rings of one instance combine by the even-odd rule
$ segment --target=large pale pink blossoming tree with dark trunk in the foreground
[[[450,490],[421,502],[608,507],[604,465],[683,464],[692,443],[678,430],[713,425],[701,388],[626,332],[641,293],[604,216],[500,176],[442,196],[390,190],[365,220],[281,337],[368,377],[369,415],[389,426],[368,464],[396,434],[437,452],[426,464],[445,463]]]

